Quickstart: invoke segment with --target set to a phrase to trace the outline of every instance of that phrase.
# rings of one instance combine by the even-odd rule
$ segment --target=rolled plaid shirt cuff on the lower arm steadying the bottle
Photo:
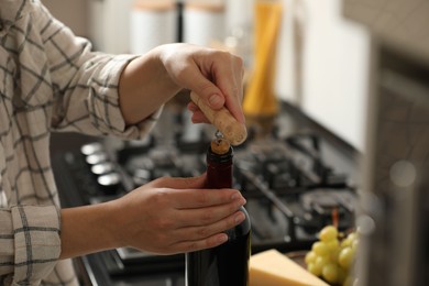
[[[59,257],[59,224],[54,206],[0,209],[0,280],[38,285]]]

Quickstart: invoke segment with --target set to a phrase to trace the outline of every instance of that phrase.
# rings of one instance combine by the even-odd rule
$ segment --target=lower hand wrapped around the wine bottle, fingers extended
[[[245,199],[234,189],[201,189],[206,176],[160,178],[116,201],[116,240],[158,254],[217,246],[222,231],[244,220]]]

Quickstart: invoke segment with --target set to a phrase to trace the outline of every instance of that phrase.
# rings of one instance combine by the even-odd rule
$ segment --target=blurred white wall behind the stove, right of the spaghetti
[[[341,0],[284,0],[284,3],[278,95],[363,151],[369,34],[342,16]],[[299,63],[300,81],[296,77]]]

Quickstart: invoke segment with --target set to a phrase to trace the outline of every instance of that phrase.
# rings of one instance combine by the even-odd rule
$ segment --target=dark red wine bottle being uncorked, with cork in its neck
[[[207,152],[207,188],[232,187],[233,152],[228,141],[217,139]],[[246,286],[251,255],[251,222],[245,220],[227,230],[228,242],[202,251],[186,253],[186,286]]]

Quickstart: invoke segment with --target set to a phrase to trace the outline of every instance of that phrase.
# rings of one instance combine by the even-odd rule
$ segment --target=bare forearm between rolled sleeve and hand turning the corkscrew
[[[160,59],[160,48],[135,58],[119,81],[119,105],[127,124],[145,119],[179,89]]]

